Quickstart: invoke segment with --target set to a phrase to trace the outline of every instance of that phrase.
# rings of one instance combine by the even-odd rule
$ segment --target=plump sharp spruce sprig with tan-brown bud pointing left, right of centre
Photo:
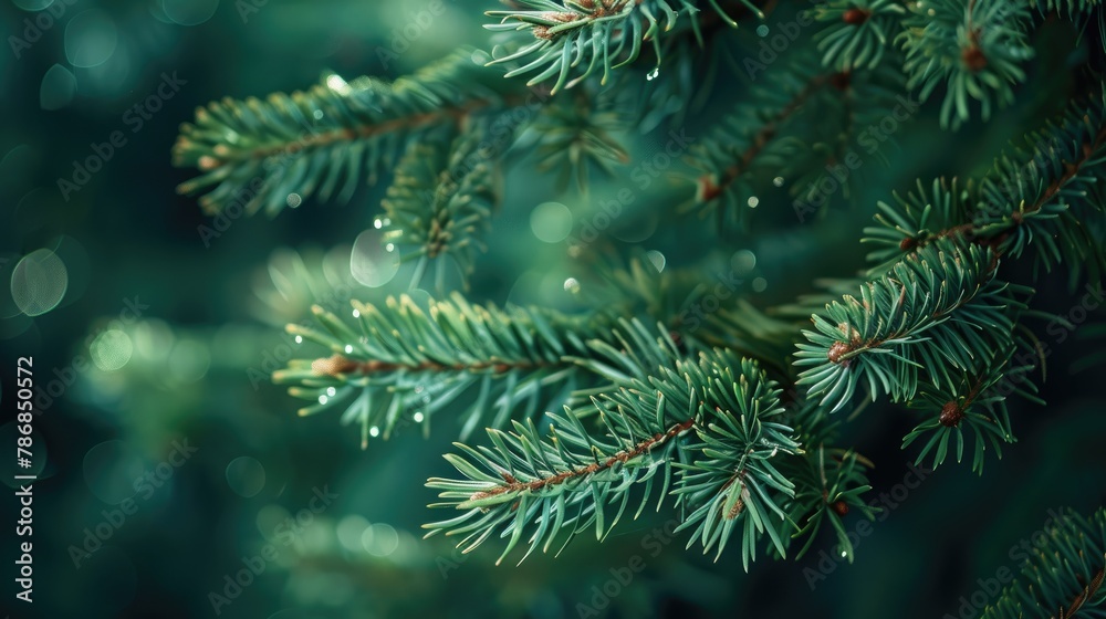
[[[993,363],[1013,337],[1016,288],[994,280],[995,256],[978,245],[939,241],[813,316],[795,366],[810,396],[833,411],[864,380],[868,395],[915,397],[924,381],[954,389],[957,373]],[[954,370],[950,373],[950,366]]]

